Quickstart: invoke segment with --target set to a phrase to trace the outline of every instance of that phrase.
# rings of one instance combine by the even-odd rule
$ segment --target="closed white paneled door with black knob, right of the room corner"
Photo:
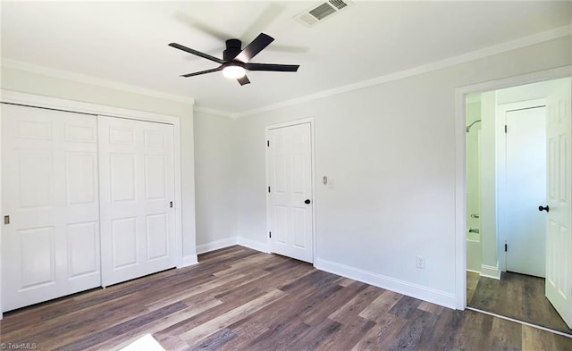
[[[308,122],[271,129],[267,138],[271,251],[312,263],[311,125]]]

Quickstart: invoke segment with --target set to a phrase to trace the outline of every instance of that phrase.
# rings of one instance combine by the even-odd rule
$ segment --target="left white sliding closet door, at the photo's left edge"
[[[2,104],[4,311],[101,285],[97,119]]]

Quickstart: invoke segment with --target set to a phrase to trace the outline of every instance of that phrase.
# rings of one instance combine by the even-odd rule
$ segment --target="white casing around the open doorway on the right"
[[[536,71],[504,79],[494,79],[455,89],[455,297],[456,308],[467,307],[467,181],[466,181],[466,106],[471,93],[511,88],[572,75],[572,65]]]

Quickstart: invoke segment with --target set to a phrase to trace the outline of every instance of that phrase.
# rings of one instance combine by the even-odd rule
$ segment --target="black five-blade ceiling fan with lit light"
[[[246,71],[284,71],[295,72],[298,71],[298,64],[274,64],[274,63],[250,63],[250,60],[258,53],[260,53],[266,46],[272,43],[274,38],[260,33],[257,38],[252,40],[250,44],[244,49],[240,46],[242,43],[239,39],[226,40],[226,49],[223,51],[223,59],[211,56],[210,54],[201,53],[200,51],[193,50],[181,44],[171,43],[169,46],[186,51],[190,54],[196,54],[207,60],[219,63],[220,66],[206,71],[197,71],[193,73],[183,74],[181,77],[193,77],[200,74],[211,73],[215,71],[223,71],[224,77],[237,79],[241,86],[250,83],[246,76]]]

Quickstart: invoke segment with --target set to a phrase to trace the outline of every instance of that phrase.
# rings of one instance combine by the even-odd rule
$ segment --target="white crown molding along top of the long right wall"
[[[495,46],[485,47],[480,50],[475,50],[467,54],[460,54],[457,56],[453,56],[441,61],[437,61],[434,63],[427,63],[425,65],[417,66],[408,70],[398,71],[391,74],[387,74],[381,77],[377,77],[374,79],[368,79],[361,82],[357,82],[354,84],[349,84],[339,88],[333,88],[321,91],[319,93],[310,94],[303,97],[298,97],[295,99],[283,101],[278,104],[270,104],[267,106],[263,106],[260,108],[255,108],[252,110],[243,111],[240,113],[229,113],[234,118],[240,118],[243,116],[247,116],[254,113],[264,113],[272,110],[276,110],[282,107],[291,106],[294,104],[301,104],[306,103],[308,101],[320,99],[327,96],[334,96],[341,93],[346,93],[348,91],[357,90],[361,88],[367,88],[371,86],[375,86],[378,84],[387,83],[394,80],[404,79],[408,77],[413,77],[419,74],[424,74],[430,71],[437,71],[441,70],[446,67],[454,66],[460,63],[468,63],[471,61],[475,61],[484,57],[492,56],[493,54],[502,54],[511,50],[517,50],[521,47],[526,46],[533,46],[535,44],[540,44],[549,40],[567,37],[572,34],[572,24],[559,27],[557,29],[550,29],[540,33],[536,33],[532,36],[518,38],[516,40],[511,40],[505,43],[501,43]]]

